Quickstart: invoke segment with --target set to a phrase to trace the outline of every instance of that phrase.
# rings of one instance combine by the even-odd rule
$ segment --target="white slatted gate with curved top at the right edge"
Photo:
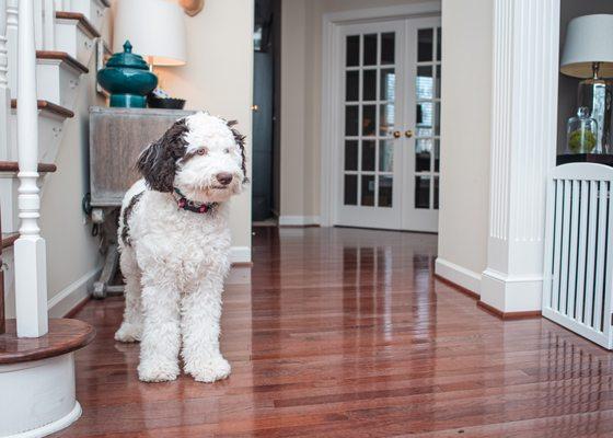
[[[547,188],[543,315],[613,348],[613,168],[560,165]]]

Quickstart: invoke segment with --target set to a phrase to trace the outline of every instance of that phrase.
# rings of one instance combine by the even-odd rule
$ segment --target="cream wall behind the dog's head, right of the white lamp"
[[[239,120],[247,136],[247,173],[251,175],[253,102],[253,0],[207,0],[194,18],[186,16],[187,65],[160,68],[161,85],[187,100],[187,110]],[[251,261],[251,186],[232,200],[234,261]]]

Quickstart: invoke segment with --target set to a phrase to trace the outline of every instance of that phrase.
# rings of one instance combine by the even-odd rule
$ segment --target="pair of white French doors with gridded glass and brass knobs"
[[[339,38],[335,223],[436,232],[440,18],[349,24]]]

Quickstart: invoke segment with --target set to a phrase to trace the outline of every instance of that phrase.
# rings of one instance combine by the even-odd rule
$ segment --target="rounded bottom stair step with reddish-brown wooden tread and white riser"
[[[0,335],[0,437],[42,437],[81,416],[74,391],[74,351],[95,336],[78,320],[49,320],[49,333],[18,338],[15,321]]]

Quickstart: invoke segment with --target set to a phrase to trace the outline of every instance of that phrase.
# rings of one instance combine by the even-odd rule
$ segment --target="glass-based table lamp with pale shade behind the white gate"
[[[613,81],[613,15],[572,19],[566,31],[560,71],[579,82],[578,107],[588,107],[598,123],[597,150],[610,153]]]

